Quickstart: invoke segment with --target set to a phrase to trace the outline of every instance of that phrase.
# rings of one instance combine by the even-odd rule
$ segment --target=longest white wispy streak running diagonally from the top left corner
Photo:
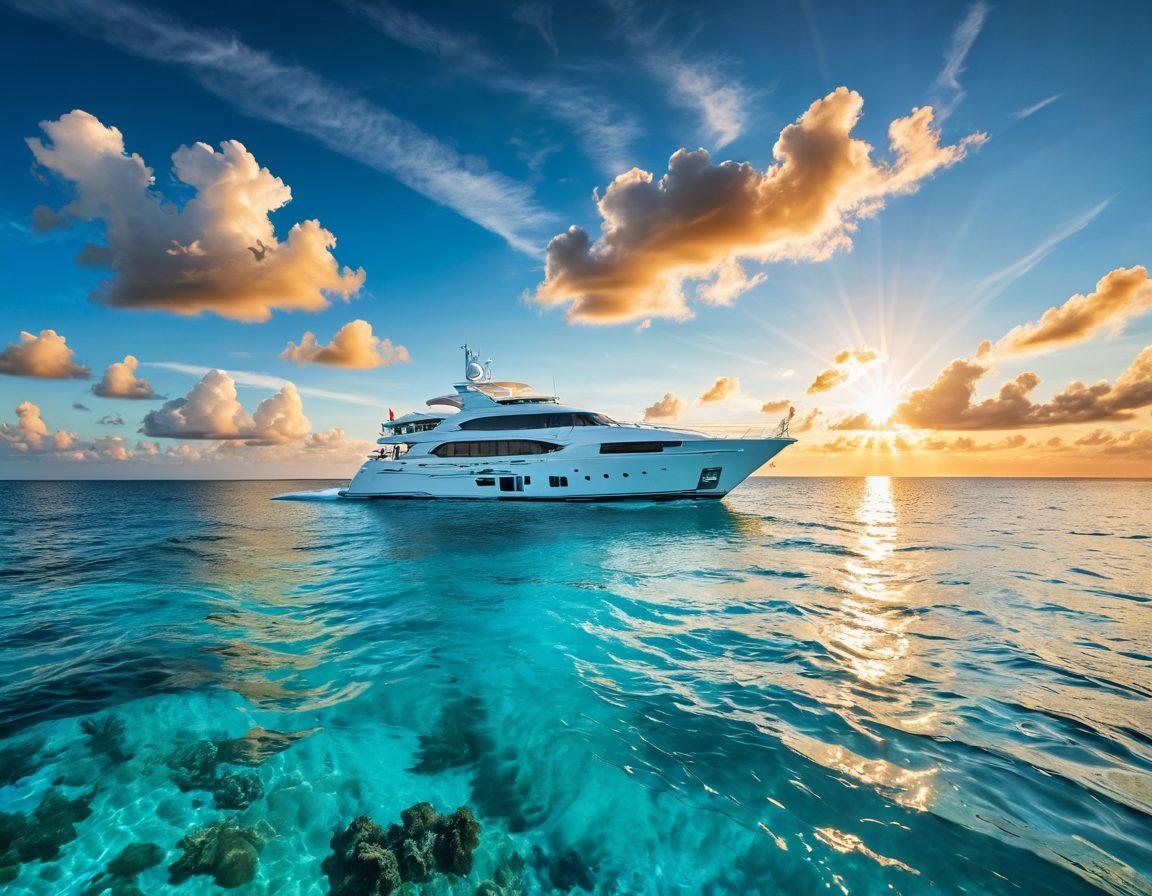
[[[120,0],[6,0],[145,59],[177,66],[253,117],[306,134],[341,155],[382,172],[501,236],[539,251],[551,220],[532,189],[465,157],[411,122],[301,66],[281,62],[236,35],[185,25]]]

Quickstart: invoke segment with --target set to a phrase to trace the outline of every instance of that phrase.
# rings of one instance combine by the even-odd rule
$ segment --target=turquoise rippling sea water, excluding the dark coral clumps
[[[343,502],[318,483],[0,484],[0,811],[94,788],[6,891],[259,827],[234,893],[429,800],[471,896],[1152,893],[1152,483],[764,479],[720,504]],[[293,493],[295,500],[272,500]],[[114,711],[130,759],[81,722]],[[165,759],[308,731],[223,812]],[[2,772],[0,764],[0,772]],[[13,775],[9,774],[8,777]],[[3,782],[0,781],[0,784]]]

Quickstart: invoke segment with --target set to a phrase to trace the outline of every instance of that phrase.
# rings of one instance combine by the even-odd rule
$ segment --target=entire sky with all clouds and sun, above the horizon
[[[780,476],[1152,476],[1139,3],[0,0],[0,478],[349,477],[460,378]]]

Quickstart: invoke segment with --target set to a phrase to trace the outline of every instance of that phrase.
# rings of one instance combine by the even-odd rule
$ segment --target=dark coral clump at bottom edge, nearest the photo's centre
[[[332,896],[388,896],[401,883],[422,883],[434,872],[467,876],[480,826],[461,806],[441,815],[431,803],[417,803],[400,813],[401,823],[387,830],[361,815],[332,837],[324,860]]]

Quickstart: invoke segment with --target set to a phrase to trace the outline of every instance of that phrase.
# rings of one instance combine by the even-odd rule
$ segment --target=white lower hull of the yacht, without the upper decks
[[[795,440],[697,439],[649,454],[598,445],[524,457],[369,458],[343,498],[487,501],[719,499]]]

